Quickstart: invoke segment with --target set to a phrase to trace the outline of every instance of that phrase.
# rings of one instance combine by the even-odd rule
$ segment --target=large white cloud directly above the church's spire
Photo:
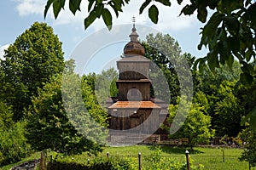
[[[178,5],[176,1],[172,1],[171,7],[166,7],[157,2],[152,3],[155,4],[160,11],[157,25],[154,25],[148,18],[148,8],[152,5],[151,3],[143,10],[143,14],[139,14],[139,8],[142,3],[143,1],[131,1],[131,3],[124,8],[124,13],[120,14],[118,20],[114,20],[113,24],[129,24],[131,23],[131,17],[133,15],[137,17],[137,24],[152,26],[161,31],[186,29],[195,23],[195,15],[179,16],[184,4],[189,3],[188,0],[183,1],[183,5]]]

